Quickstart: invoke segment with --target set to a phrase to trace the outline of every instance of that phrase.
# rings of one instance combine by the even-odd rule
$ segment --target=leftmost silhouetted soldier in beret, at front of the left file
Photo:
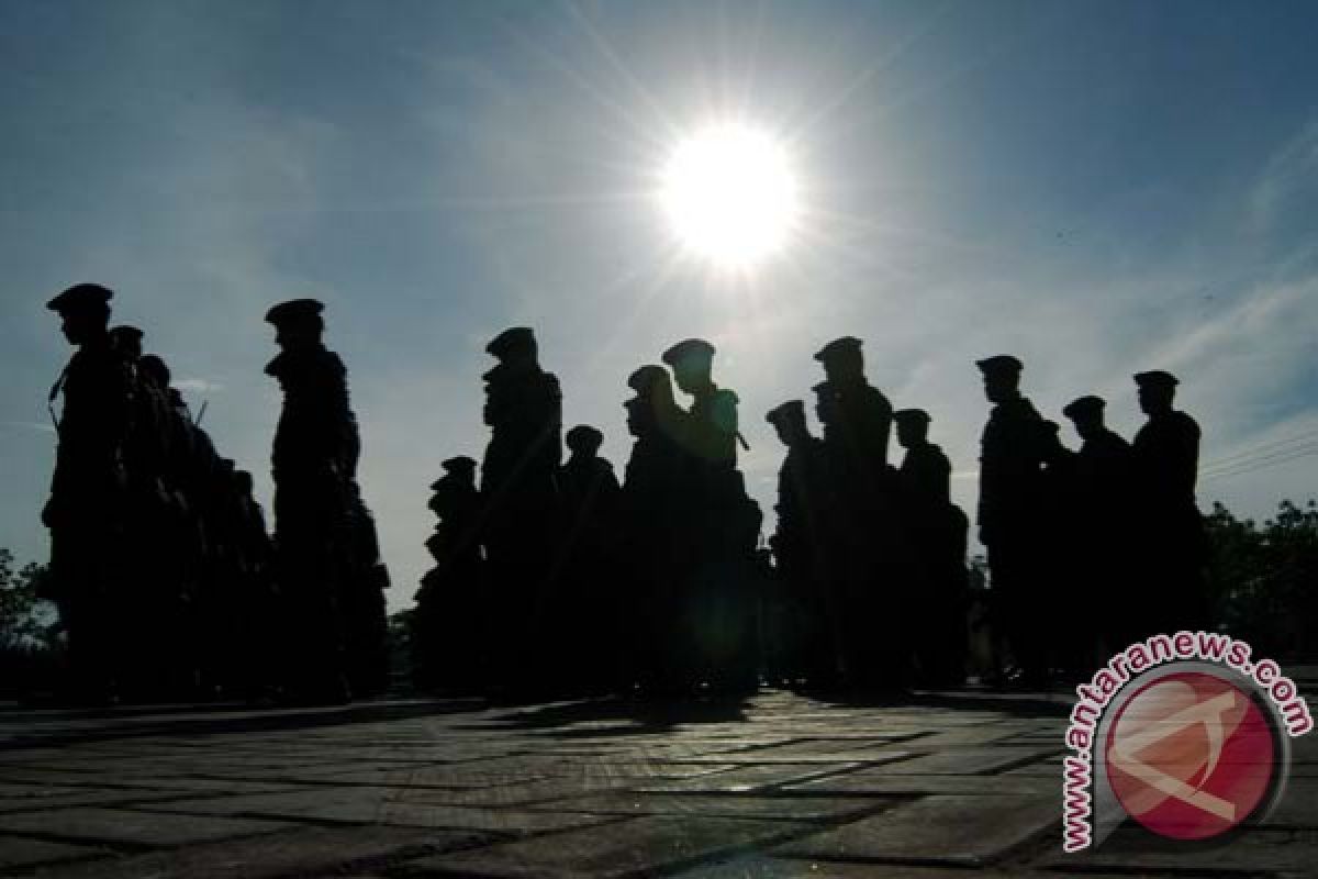
[[[120,676],[116,621],[123,598],[119,542],[127,513],[121,455],[130,386],[107,331],[113,294],[95,283],[69,287],[46,303],[78,348],[50,390],[63,394],[50,499],[50,594],[69,639],[75,697],[116,698]]]

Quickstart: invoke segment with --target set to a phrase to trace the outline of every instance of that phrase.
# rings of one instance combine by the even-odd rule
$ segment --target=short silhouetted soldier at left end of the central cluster
[[[474,693],[484,684],[486,656],[485,560],[477,527],[481,497],[476,461],[465,455],[443,463],[431,484],[439,517],[426,540],[435,567],[420,581],[413,629],[414,681],[422,689]]]

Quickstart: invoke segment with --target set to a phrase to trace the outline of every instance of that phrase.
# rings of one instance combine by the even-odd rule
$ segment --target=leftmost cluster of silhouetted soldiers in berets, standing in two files
[[[45,597],[65,631],[70,696],[327,702],[382,692],[387,575],[319,303],[266,318],[282,348],[266,372],[285,391],[272,538],[250,473],[216,452],[165,361],[144,353],[142,331],[109,326],[112,297],[80,283],[47,303],[76,348],[50,393],[58,447],[42,511]]]

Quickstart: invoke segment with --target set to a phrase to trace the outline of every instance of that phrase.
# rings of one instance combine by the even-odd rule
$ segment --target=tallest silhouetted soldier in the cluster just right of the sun
[[[844,336],[815,354],[830,394],[824,445],[838,513],[832,555],[849,683],[892,689],[909,675],[909,633],[902,622],[909,564],[899,486],[888,467],[892,405],[865,377],[861,344]]]

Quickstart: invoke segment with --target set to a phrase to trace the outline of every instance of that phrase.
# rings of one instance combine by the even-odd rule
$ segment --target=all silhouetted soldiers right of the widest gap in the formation
[[[965,683],[970,523],[952,502],[952,463],[925,410],[894,410],[869,382],[862,349],[845,336],[815,356],[822,436],[800,399],[767,412],[787,455],[778,525],[757,547],[738,399],[712,378],[713,345],[679,343],[630,376],[619,482],[593,427],[568,431],[561,463],[558,380],[531,329],[498,336],[485,460],[449,459],[432,485],[418,681],[556,693]],[[1149,420],[1133,443],[1104,426],[1101,398],[1069,403],[1073,451],[1021,394],[1016,357],[977,365],[992,403],[978,509],[995,640],[986,676],[1046,685],[1137,638],[1206,625],[1199,431],[1173,409],[1176,378],[1135,376]]]

